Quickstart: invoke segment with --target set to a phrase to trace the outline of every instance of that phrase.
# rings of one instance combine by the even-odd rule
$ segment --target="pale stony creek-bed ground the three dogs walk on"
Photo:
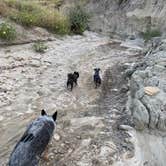
[[[38,54],[32,44],[0,48],[0,163],[9,155],[30,121],[41,109],[58,111],[49,161],[40,165],[110,166],[121,155],[132,158],[134,147],[121,124],[127,115],[128,81],[124,64],[141,61],[140,50],[122,47],[95,33],[46,42]],[[93,85],[93,68],[100,67],[102,86]],[[66,75],[79,71],[78,86],[66,89]]]

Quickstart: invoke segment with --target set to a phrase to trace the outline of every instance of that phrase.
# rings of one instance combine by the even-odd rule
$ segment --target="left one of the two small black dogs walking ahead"
[[[67,75],[67,88],[70,86],[70,90],[73,90],[73,85],[77,85],[77,79],[79,78],[79,72],[69,73]]]

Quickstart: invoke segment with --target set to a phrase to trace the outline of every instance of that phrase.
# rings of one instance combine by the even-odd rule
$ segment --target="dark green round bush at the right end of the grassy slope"
[[[89,14],[80,6],[72,8],[69,13],[70,30],[82,34],[88,28]]]

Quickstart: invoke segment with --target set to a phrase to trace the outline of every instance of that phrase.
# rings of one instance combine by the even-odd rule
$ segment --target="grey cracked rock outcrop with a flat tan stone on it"
[[[164,43],[159,46],[160,48]],[[158,50],[158,48],[157,48]],[[130,81],[128,110],[133,115],[137,129],[148,127],[166,131],[166,53],[154,50],[146,59],[148,67],[137,70]],[[147,93],[146,87],[151,91]]]

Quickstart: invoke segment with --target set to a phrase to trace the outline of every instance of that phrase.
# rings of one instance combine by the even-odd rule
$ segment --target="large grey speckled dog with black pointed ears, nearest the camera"
[[[57,112],[48,116],[44,110],[41,111],[41,116],[28,126],[15,146],[9,166],[38,166],[39,159],[53,135],[56,118]]]

